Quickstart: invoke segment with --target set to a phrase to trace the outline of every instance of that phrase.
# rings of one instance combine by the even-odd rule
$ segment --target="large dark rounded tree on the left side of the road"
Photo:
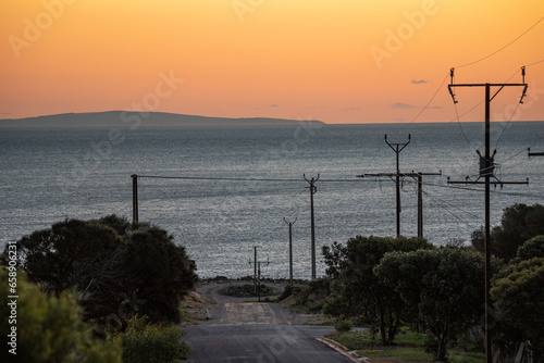
[[[197,279],[194,262],[173,236],[115,215],[65,220],[23,237],[16,247],[18,266],[32,281],[57,296],[81,291],[85,320],[104,329],[123,329],[136,313],[177,322],[177,305]]]

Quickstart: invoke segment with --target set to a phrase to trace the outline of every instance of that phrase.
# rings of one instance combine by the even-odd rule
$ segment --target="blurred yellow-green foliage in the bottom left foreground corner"
[[[16,292],[16,315],[12,315],[8,274],[0,268],[2,362],[121,362],[120,340],[94,340],[90,326],[81,320],[75,296],[67,291],[59,297],[48,296],[39,286],[28,283],[21,271],[17,272]],[[13,327],[16,328],[16,346],[9,345]]]

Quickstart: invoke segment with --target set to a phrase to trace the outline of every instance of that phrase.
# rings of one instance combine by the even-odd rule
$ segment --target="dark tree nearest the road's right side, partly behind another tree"
[[[382,343],[393,343],[406,306],[392,287],[378,279],[373,268],[387,252],[431,248],[433,246],[422,238],[373,236],[350,238],[346,246],[334,242],[323,247],[332,290],[325,313],[341,317],[362,316],[376,322]]]

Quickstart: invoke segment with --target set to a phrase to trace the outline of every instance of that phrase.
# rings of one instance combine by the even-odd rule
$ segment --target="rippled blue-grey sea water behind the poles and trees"
[[[506,128],[505,128],[506,126]],[[288,276],[288,226],[293,221],[295,277],[310,276],[310,195],[314,195],[318,275],[321,247],[356,235],[396,234],[395,185],[364,173],[395,173],[395,152],[385,143],[410,143],[401,172],[436,173],[423,178],[424,236],[433,243],[470,240],[483,224],[483,186],[447,185],[478,177],[482,124],[325,125],[228,128],[0,129],[0,243],[54,222],[132,218],[132,174],[244,180],[138,178],[139,220],[175,236],[202,277],[252,274],[252,246],[262,274]],[[492,148],[503,180],[493,189],[492,221],[516,202],[544,203],[544,122],[493,124]],[[281,180],[279,180],[281,179]],[[333,182],[334,180],[334,182]],[[341,180],[341,182],[338,182]],[[470,189],[470,190],[468,190]],[[417,235],[417,184],[401,188],[401,234]],[[269,261],[270,264],[265,262]]]

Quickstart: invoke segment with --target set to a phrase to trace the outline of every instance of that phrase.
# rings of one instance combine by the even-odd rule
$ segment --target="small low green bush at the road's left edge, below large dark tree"
[[[148,325],[133,317],[123,335],[124,363],[171,363],[188,359],[189,347],[181,342],[183,333],[175,325]]]

